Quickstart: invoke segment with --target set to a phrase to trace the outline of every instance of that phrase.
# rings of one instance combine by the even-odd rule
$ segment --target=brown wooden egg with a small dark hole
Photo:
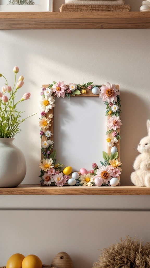
[[[56,268],[73,268],[72,259],[66,252],[58,253],[54,257],[51,265],[55,266]]]

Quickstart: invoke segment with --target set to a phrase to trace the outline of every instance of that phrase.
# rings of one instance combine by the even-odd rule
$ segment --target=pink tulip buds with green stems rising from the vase
[[[14,86],[11,88],[8,85],[5,76],[0,74],[0,77],[4,77],[6,80],[5,85],[2,87],[2,92],[0,92],[0,137],[1,138],[13,138],[17,133],[21,131],[20,124],[24,122],[27,118],[21,119],[22,111],[17,111],[16,106],[19,102],[25,101],[30,98],[30,93],[25,93],[21,100],[15,103],[16,93],[19,88],[24,84],[24,77],[20,76],[16,84],[16,75],[19,72],[17,66],[14,67],[13,72],[15,73]],[[8,93],[8,94],[7,94]],[[7,94],[7,95],[6,95]],[[29,116],[30,117],[30,116]]]

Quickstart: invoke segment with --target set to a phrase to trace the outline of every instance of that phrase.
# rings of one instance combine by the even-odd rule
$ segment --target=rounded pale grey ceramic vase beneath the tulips
[[[0,138],[0,188],[17,187],[26,175],[25,157],[13,141]]]

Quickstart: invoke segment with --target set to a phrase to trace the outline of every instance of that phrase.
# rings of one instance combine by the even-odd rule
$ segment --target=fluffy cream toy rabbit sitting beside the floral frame
[[[148,136],[140,140],[137,150],[140,154],[133,163],[131,181],[136,186],[150,187],[150,121],[147,120]]]

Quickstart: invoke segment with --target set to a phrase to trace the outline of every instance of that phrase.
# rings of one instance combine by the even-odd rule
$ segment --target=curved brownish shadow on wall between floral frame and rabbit
[[[148,107],[141,98],[129,91],[121,92],[121,106],[120,159],[123,163],[121,184],[126,185],[132,184],[130,174],[133,171],[135,157],[138,155],[137,145],[141,138],[147,136]]]

